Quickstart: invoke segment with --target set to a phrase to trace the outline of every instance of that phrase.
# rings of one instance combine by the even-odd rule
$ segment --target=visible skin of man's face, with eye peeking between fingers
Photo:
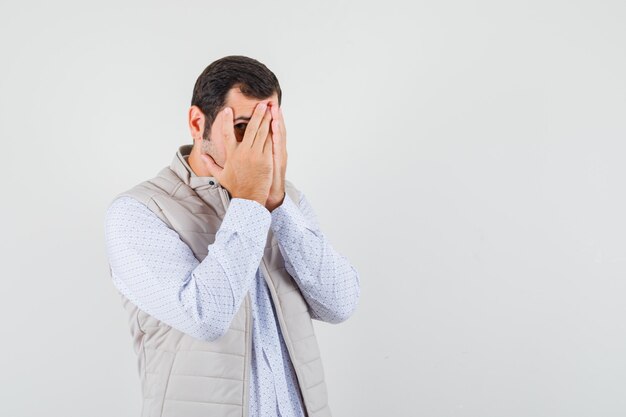
[[[258,103],[268,103],[271,106],[278,107],[278,95],[274,93],[271,97],[259,100],[256,98],[246,97],[243,95],[239,87],[233,87],[226,95],[226,107],[233,109],[233,124],[235,137],[237,142],[243,140],[248,121],[252,117],[252,113]],[[215,162],[222,168],[226,163],[226,151],[224,146],[224,138],[219,124],[219,118],[216,118],[211,125],[211,133],[209,139],[202,140],[202,153],[209,154]]]

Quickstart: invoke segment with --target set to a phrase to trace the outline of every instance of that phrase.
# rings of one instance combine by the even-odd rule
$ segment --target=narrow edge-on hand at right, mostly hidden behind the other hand
[[[265,208],[272,212],[285,199],[285,173],[287,171],[287,130],[283,112],[277,106],[270,106],[272,113],[272,159],[273,179]]]

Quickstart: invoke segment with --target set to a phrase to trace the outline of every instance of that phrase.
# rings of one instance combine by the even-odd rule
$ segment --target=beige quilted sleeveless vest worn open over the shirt
[[[193,174],[179,148],[171,165],[119,196],[149,207],[178,232],[199,261],[226,214],[227,190],[215,177]],[[298,204],[299,191],[286,181]],[[118,197],[119,197],[118,196]],[[276,309],[309,417],[330,417],[324,371],[308,305],[285,269],[270,229],[259,265]],[[251,299],[246,295],[227,333],[213,342],[196,339],[140,310],[124,295],[143,394],[142,417],[248,416],[252,349]]]

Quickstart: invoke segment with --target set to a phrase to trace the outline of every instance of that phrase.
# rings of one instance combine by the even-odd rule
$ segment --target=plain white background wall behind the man
[[[361,276],[335,417],[626,415],[623,1],[0,3],[0,415],[138,416],[104,213],[194,82],[278,76],[287,177]]]

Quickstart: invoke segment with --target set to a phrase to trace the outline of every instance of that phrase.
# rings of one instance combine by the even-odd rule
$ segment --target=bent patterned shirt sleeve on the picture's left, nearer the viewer
[[[254,200],[233,198],[200,262],[148,207],[119,197],[105,222],[111,277],[137,307],[195,338],[226,333],[255,279],[271,224]]]

